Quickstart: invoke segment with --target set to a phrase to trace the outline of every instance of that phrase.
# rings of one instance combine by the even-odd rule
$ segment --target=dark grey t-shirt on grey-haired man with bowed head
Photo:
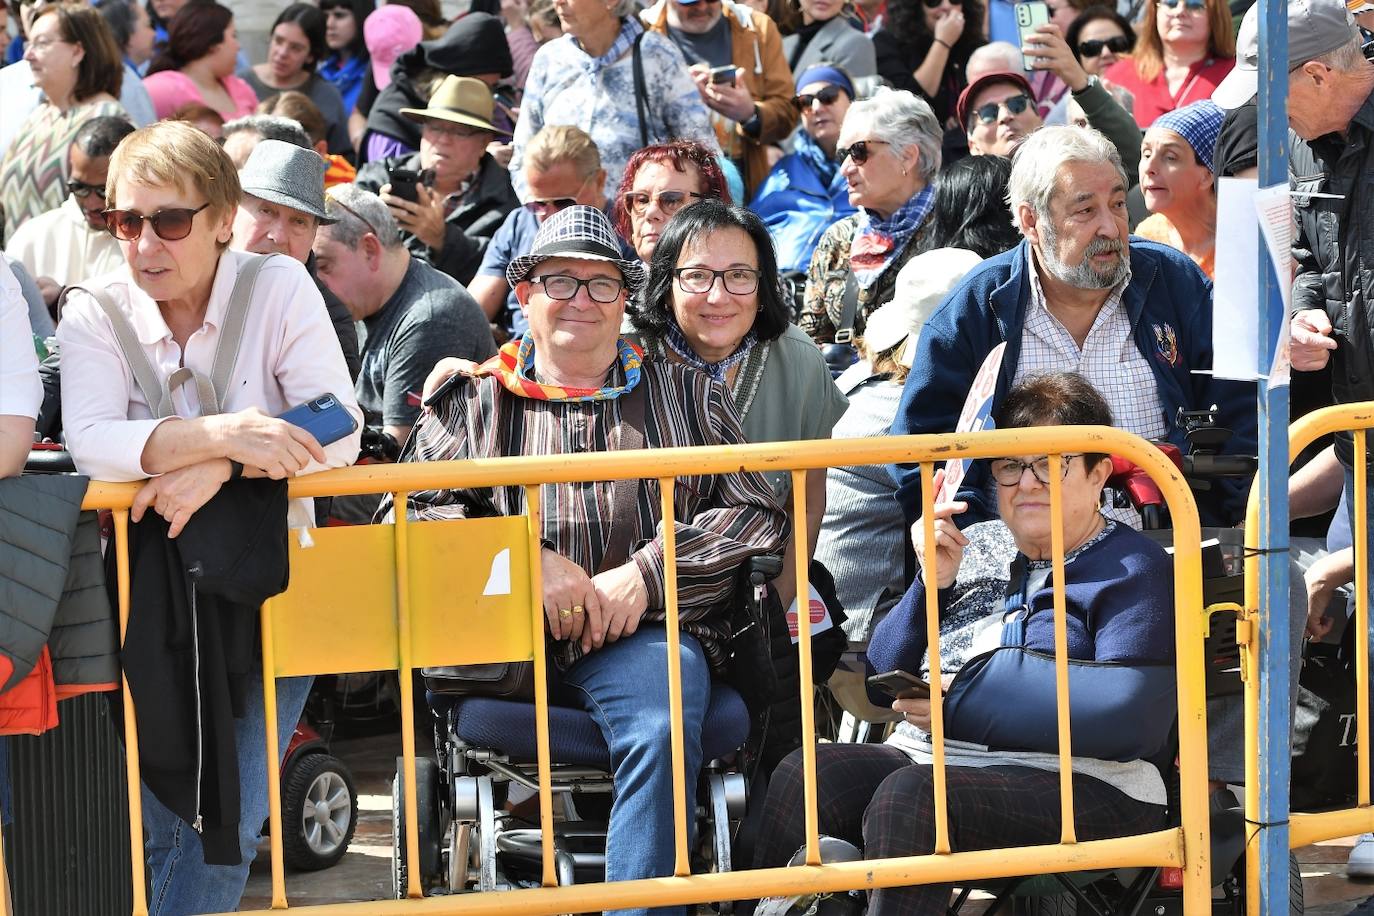
[[[481,363],[496,353],[477,299],[418,258],[386,305],[360,324],[357,402],[368,426],[414,426],[425,376],[445,356]]]

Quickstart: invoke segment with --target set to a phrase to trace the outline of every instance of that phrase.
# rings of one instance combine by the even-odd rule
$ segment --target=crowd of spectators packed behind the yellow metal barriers
[[[1371,217],[1352,206],[1374,172],[1366,7],[1287,12],[1304,408],[1374,400]],[[982,0],[474,0],[452,21],[437,0],[320,0],[286,5],[250,62],[210,0],[11,0],[0,475],[37,430],[82,474],[146,481],[133,588],[155,602],[147,545],[262,530],[253,481],[354,463],[364,430],[415,461],[951,433],[991,371],[999,427],[1116,426],[1186,450],[1184,417],[1208,411],[1224,452],[1254,455],[1254,385],[1210,374],[1216,180],[1259,158],[1256,11],[1235,8],[1058,0],[1020,36]],[[326,445],[279,419],[322,396],[354,427]],[[1107,457],[1061,461],[1080,838],[1162,824],[1173,765],[1172,567],[1107,488]],[[1294,514],[1349,507],[1334,559],[1294,574],[1294,632],[1344,621],[1331,596],[1369,523],[1351,515],[1353,461],[1337,437],[1294,478]],[[775,556],[780,608],[811,562],[868,673],[947,684],[955,847],[1054,842],[1052,670],[1025,662],[1054,645],[1050,467],[974,461],[926,497],[916,466],[809,471],[805,519],[787,472],[680,481],[688,810],[736,573]],[[1241,523],[1248,489],[1198,492],[1204,523]],[[548,485],[544,504],[554,678],[611,751],[607,878],[669,875],[657,489]],[[392,511],[298,501],[280,523]],[[525,490],[418,493],[408,511],[517,515]],[[150,652],[168,634],[129,639]],[[261,685],[224,643],[214,670]],[[976,663],[992,648],[1022,663]],[[265,725],[224,713],[260,696],[229,689],[206,713],[218,791],[202,798],[203,761],[185,770],[199,737],[162,714],[169,684],[198,688],[159,677],[129,677],[162,739],[142,746],[151,912],[229,911],[267,814]],[[930,851],[930,705],[849,687],[903,724],[888,744],[823,748],[822,832],[870,857]],[[279,684],[287,731],[308,689]],[[1217,794],[1243,779],[1238,710],[1212,714]],[[798,754],[774,773],[754,865],[801,842]],[[1351,871],[1374,876],[1367,840]],[[947,891],[870,906],[938,913]]]

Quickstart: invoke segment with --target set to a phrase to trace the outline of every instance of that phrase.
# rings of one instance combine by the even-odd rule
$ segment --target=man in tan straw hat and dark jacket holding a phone
[[[447,77],[425,108],[401,108],[420,124],[420,151],[368,162],[356,184],[379,194],[405,233],[405,247],[466,284],[506,214],[519,206],[510,173],[486,152],[506,136],[492,124],[492,91],[481,80]],[[398,170],[418,176],[393,187]]]

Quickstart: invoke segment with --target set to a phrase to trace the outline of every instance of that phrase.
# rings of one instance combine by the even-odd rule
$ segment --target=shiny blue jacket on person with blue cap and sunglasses
[[[840,163],[805,130],[797,132],[797,151],[778,161],[749,209],[768,227],[783,273],[805,273],[826,229],[855,213]]]

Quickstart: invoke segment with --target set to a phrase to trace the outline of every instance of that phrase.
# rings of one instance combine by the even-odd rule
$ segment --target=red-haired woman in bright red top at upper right
[[[1165,111],[1210,99],[1235,66],[1235,30],[1226,0],[1146,0],[1135,51],[1103,78],[1135,99],[1140,129]]]

